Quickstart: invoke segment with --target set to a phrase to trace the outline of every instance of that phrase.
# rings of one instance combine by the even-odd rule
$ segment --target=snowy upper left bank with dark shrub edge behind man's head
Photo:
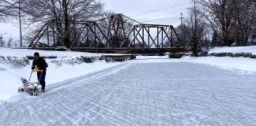
[[[27,49],[9,49],[0,48],[0,63],[12,65],[13,67],[24,67],[29,64],[29,60],[34,58],[35,52],[40,53],[40,57],[51,60],[52,63],[62,64],[82,64],[99,61],[102,54],[81,53],[71,51],[45,51],[45,50],[27,50]]]

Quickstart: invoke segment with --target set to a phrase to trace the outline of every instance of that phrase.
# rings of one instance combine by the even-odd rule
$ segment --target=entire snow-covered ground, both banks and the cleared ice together
[[[223,47],[211,53],[254,54],[254,49]],[[0,48],[0,56],[32,56],[35,51]],[[17,94],[31,65],[0,65],[0,125],[256,124],[255,59],[138,56],[126,62],[56,65],[52,61],[103,54],[39,52],[58,58],[46,59],[47,92],[36,98]]]

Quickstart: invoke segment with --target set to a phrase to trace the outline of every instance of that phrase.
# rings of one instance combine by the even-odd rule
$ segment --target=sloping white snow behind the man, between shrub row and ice
[[[102,69],[107,69],[114,65],[119,65],[119,62],[107,63],[106,61],[96,61],[94,63],[82,64],[62,64],[58,65],[46,59],[49,67],[47,68],[46,83],[51,85],[63,80],[69,80],[77,76],[85,75],[90,72],[96,72]],[[30,61],[32,64],[32,61]],[[21,87],[21,77],[29,78],[31,73],[31,65],[26,65],[22,68],[13,69],[11,65],[0,65],[0,102],[6,101],[13,95],[18,95],[17,89]],[[32,73],[31,82],[37,82],[36,72]],[[47,90],[47,87],[46,87]]]

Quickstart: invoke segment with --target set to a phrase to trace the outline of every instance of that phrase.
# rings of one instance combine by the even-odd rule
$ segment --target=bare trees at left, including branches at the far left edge
[[[17,10],[21,9],[22,22],[26,26],[23,31],[28,33],[24,38],[28,41],[44,24],[52,21],[47,36],[55,36],[56,46],[70,47],[70,39],[79,30],[79,26],[72,24],[73,20],[96,20],[104,15],[104,4],[96,0],[0,0],[0,5],[1,21],[17,18]]]

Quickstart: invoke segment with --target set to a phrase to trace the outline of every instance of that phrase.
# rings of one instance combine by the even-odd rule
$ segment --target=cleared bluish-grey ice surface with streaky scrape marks
[[[186,62],[124,63],[20,97],[0,125],[256,125],[255,74]]]

